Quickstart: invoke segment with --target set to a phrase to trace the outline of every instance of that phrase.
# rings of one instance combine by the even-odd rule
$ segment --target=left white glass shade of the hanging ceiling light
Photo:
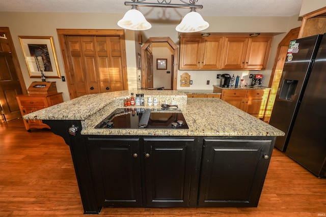
[[[118,25],[130,30],[147,30],[152,27],[135,6],[132,6],[131,10],[127,11],[123,18],[118,21]]]

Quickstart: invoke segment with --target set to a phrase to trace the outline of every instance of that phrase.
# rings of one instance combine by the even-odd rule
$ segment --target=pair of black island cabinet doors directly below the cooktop
[[[89,138],[98,204],[189,206],[196,166],[194,141],[194,138]]]

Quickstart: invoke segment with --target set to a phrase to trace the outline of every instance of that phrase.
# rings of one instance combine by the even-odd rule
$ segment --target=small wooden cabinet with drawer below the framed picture
[[[55,94],[25,94],[16,96],[21,115],[29,114],[34,111],[47,108],[63,102],[62,92]],[[32,128],[42,129],[50,127],[42,122],[42,120],[26,120],[23,119],[27,131]]]

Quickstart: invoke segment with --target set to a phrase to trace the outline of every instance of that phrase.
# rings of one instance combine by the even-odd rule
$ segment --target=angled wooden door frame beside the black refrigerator
[[[300,27],[291,29],[288,34],[283,38],[283,40],[279,43],[273,70],[271,71],[270,80],[268,84],[268,86],[271,87],[271,90],[269,92],[263,121],[269,122],[270,120],[271,112],[274,107],[277,89],[279,87],[281,75],[283,72],[288,46],[290,41],[298,38],[299,31]]]

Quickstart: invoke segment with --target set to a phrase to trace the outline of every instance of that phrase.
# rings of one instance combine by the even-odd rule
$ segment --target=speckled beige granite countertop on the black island
[[[144,90],[150,91],[150,90]],[[159,94],[157,95],[157,91]],[[167,92],[166,92],[167,91]],[[180,91],[153,90],[145,96],[174,98],[181,109],[188,130],[185,129],[95,129],[94,127],[116,108],[123,108],[122,99],[130,91],[112,94],[87,95],[45,108],[27,115],[25,119],[81,120],[83,135],[121,136],[283,136],[284,133],[262,120],[218,99],[186,98]],[[139,91],[140,93],[140,91]],[[155,95],[156,94],[156,95]],[[110,98],[109,98],[110,97]],[[146,99],[146,98],[145,98]],[[160,99],[160,98],[158,98]],[[134,106],[137,108],[136,106]],[[157,106],[159,108],[159,105]],[[129,107],[132,108],[132,107]],[[155,108],[145,106],[144,108]]]

